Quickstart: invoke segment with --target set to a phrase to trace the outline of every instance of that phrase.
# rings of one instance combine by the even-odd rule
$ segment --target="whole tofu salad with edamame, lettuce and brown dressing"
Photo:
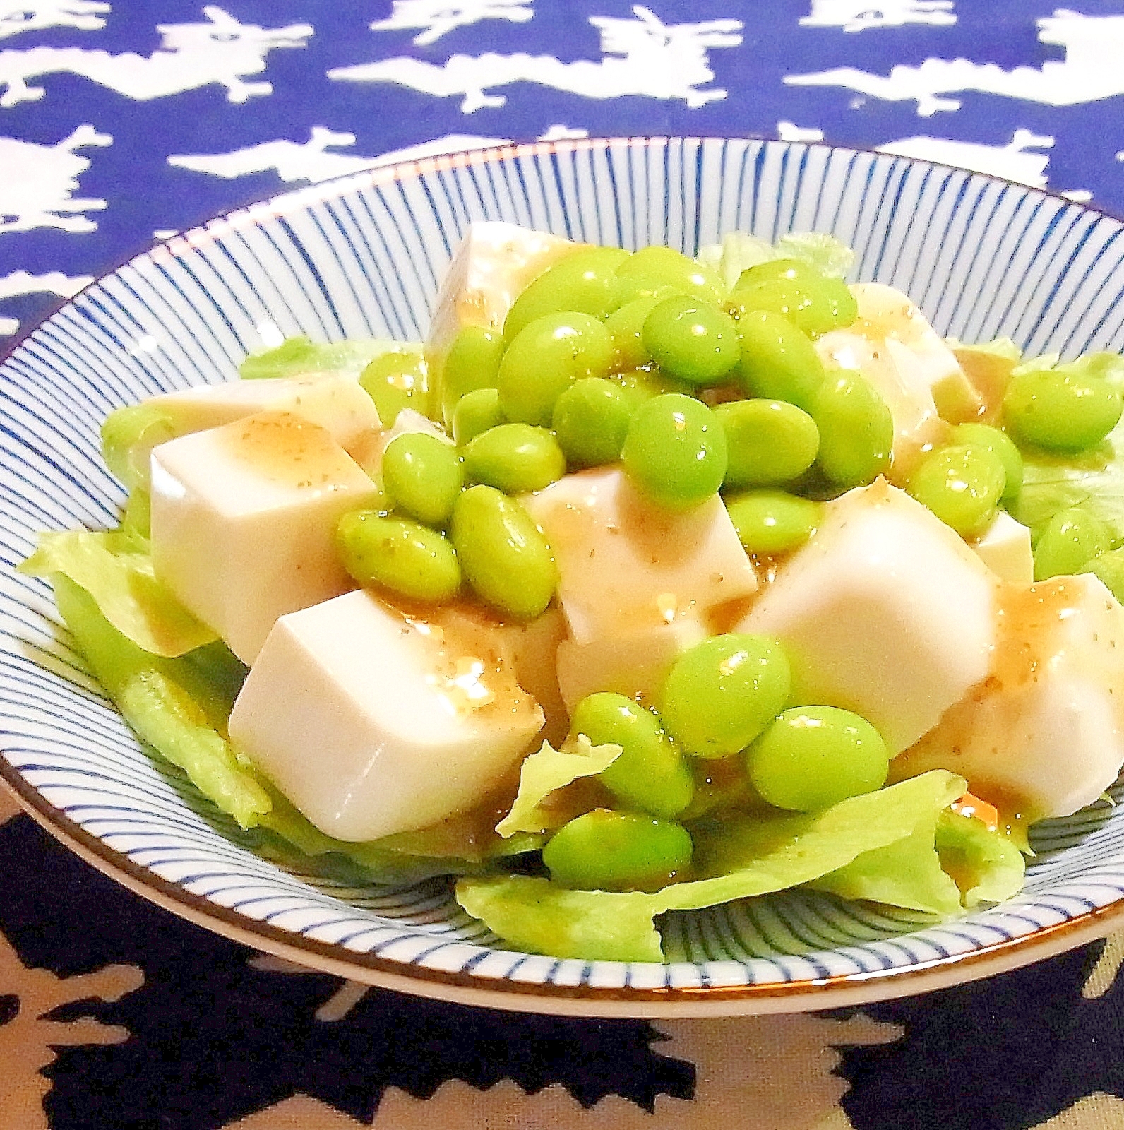
[[[473,225],[424,346],[112,412],[121,525],[21,568],[258,851],[448,876],[506,945],[1001,902],[1124,764],[1124,360],[944,340],[849,267]]]

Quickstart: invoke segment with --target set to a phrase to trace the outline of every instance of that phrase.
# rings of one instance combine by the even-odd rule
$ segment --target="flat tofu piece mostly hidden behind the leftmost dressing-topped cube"
[[[339,374],[230,381],[165,392],[147,403],[166,409],[182,435],[221,427],[258,412],[293,412],[326,428],[349,451],[382,428],[375,402],[359,382]]]

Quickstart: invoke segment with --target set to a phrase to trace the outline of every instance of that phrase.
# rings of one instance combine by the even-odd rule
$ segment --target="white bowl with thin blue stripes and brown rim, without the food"
[[[46,585],[12,572],[38,530],[115,523],[122,494],[98,453],[102,418],[230,380],[278,331],[421,337],[477,219],[690,252],[733,229],[830,232],[855,247],[857,278],[908,292],[942,333],[1068,356],[1124,347],[1117,220],[881,154],[692,138],[538,144],[364,172],[216,219],[88,287],[0,365],[0,775],[32,815],[133,889],[260,949],[539,1011],[836,1007],[985,976],[1121,921],[1124,807],[1105,803],[1037,829],[1018,898],[943,925],[788,893],[671,915],[666,965],[554,960],[499,948],[441,881],[348,887],[279,869],[140,750]]]

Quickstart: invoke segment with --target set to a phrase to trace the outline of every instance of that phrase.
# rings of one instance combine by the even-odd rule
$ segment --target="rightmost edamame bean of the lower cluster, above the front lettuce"
[[[880,789],[890,764],[874,727],[835,706],[786,710],[749,747],[747,763],[760,796],[796,812]]]

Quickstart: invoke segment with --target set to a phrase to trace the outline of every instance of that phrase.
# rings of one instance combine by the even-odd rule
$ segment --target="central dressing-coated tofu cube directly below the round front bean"
[[[567,475],[523,504],[558,562],[558,599],[575,643],[697,617],[757,589],[717,495],[671,512],[609,469]]]

